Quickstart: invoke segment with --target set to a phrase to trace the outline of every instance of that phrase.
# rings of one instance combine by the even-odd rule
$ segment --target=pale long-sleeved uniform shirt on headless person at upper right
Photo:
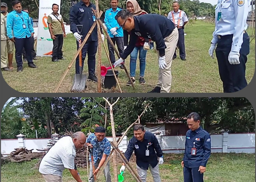
[[[215,31],[212,43],[217,44],[218,35],[233,34],[231,51],[240,52],[251,0],[218,0],[215,7]],[[217,21],[221,12],[221,20]]]

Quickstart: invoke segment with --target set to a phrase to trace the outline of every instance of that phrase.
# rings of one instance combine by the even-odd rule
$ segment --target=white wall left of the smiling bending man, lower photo
[[[113,141],[112,137],[106,137],[109,141]],[[117,137],[118,140],[119,137]],[[26,147],[26,149],[32,150],[32,152],[41,152],[36,149],[46,149],[48,142],[52,138],[41,138],[41,139],[1,139],[1,154],[5,157],[9,155],[14,149]],[[125,136],[122,142],[118,145],[118,149],[122,152],[127,150],[127,136]],[[111,147],[112,148],[112,147]]]

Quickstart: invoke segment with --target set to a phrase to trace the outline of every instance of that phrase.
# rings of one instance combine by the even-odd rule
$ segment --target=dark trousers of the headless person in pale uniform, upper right
[[[228,57],[232,46],[232,35],[221,36],[218,39],[216,57],[219,66],[219,75],[223,82],[223,92],[236,92],[247,86],[245,79],[245,63],[250,52],[250,37],[245,32],[240,49],[240,64],[230,64]]]

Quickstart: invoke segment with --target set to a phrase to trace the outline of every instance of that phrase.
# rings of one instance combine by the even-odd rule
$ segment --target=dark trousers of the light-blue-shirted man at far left
[[[33,37],[26,37],[26,38],[14,38],[15,43],[15,59],[17,63],[17,67],[22,67],[22,50],[23,47],[25,48],[26,52],[26,57],[27,57],[27,63],[31,64],[33,63],[33,58],[32,58],[32,41],[34,41]]]

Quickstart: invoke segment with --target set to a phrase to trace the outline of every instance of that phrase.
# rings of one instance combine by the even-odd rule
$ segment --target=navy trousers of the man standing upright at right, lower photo
[[[184,166],[184,182],[204,182],[204,173],[200,174],[199,167],[189,168]]]

